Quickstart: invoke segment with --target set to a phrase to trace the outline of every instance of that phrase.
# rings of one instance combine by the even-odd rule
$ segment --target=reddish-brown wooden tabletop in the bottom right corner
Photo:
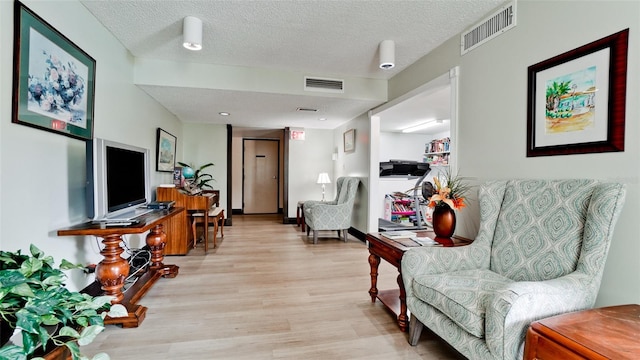
[[[640,305],[577,311],[531,324],[525,360],[640,359]]]

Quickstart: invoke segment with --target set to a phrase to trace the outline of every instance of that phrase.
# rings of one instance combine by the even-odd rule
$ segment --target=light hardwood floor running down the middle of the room
[[[140,304],[140,327],[107,326],[83,347],[119,359],[464,359],[429,331],[407,343],[395,318],[372,303],[368,251],[321,232],[317,245],[279,216],[233,217],[218,248],[198,244],[174,279],[160,279]],[[209,236],[211,238],[211,235]],[[379,288],[396,287],[384,261]]]

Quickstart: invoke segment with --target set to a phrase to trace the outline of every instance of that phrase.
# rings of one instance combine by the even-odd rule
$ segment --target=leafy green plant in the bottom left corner
[[[36,246],[31,255],[0,251],[0,359],[28,359],[36,351],[66,346],[74,360],[85,359],[80,346],[91,343],[104,330],[104,318],[126,316],[120,304],[111,305],[111,296],[93,297],[69,291],[62,270],[84,268],[62,260],[58,268],[51,256]],[[22,344],[9,338],[19,329]],[[8,335],[8,336],[7,336]],[[100,353],[94,359],[108,359]]]

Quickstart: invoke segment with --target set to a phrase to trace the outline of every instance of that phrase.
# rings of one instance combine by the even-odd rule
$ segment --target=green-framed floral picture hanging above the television
[[[22,3],[14,9],[11,122],[92,139],[96,61]]]

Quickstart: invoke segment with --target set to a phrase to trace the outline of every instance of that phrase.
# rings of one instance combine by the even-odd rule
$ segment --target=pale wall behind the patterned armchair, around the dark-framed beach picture
[[[586,177],[623,182],[626,204],[617,223],[596,305],[640,302],[638,175],[640,75],[637,1],[518,1],[517,26],[460,56],[459,37],[394,77],[396,98],[460,66],[458,167],[479,181],[506,178]],[[544,21],[542,21],[543,19]],[[549,26],[557,24],[558,26]],[[527,67],[630,28],[625,151],[526,157]],[[560,30],[558,30],[560,29]],[[477,223],[478,209],[460,215]],[[475,227],[461,229],[475,236]]]

